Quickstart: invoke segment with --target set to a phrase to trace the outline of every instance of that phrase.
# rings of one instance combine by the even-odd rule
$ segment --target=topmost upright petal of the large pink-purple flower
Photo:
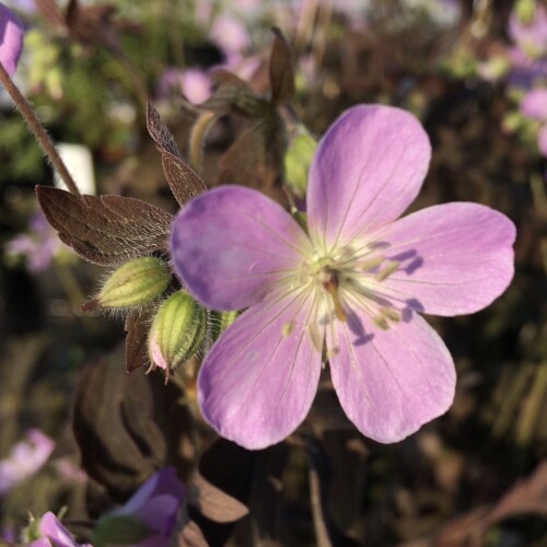
[[[310,171],[312,241],[328,251],[399,217],[420,190],[430,158],[428,136],[407,112],[361,105],[342,114]]]

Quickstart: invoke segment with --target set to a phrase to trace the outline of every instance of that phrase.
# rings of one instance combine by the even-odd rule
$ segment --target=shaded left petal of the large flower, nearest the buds
[[[201,194],[178,213],[171,234],[175,270],[205,305],[240,310],[294,276],[304,231],[278,203],[242,186]]]

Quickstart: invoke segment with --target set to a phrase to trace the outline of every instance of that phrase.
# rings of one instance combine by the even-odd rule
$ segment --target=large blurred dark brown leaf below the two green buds
[[[127,374],[123,361],[120,347],[83,371],[72,422],[84,470],[117,501],[166,465],[187,475],[196,435],[181,389],[159,374]]]

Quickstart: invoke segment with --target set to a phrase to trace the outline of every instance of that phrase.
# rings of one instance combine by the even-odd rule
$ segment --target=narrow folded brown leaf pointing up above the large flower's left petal
[[[147,127],[158,151],[162,154],[163,172],[171,191],[182,207],[193,197],[205,191],[207,187],[183,160],[173,135],[150,103],[147,109]]]

